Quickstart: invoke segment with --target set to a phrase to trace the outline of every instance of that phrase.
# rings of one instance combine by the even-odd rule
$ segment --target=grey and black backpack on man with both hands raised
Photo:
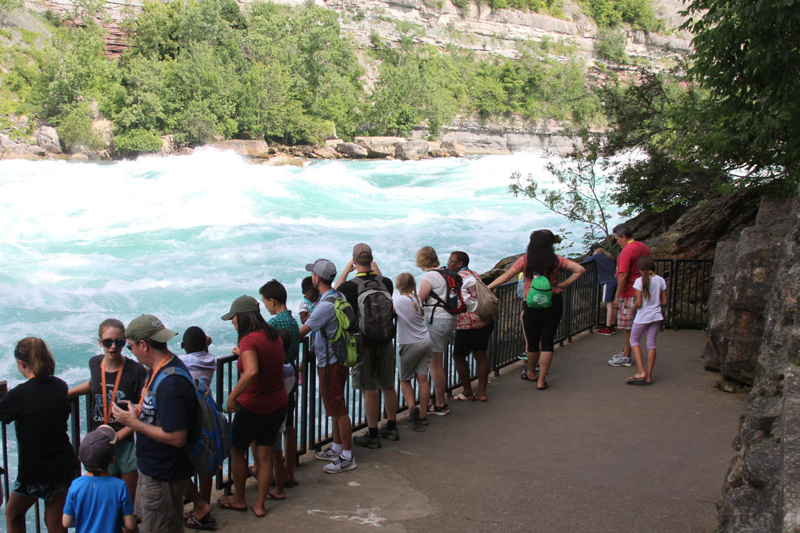
[[[394,304],[383,276],[355,276],[353,281],[358,285],[358,331],[378,344],[394,339]]]

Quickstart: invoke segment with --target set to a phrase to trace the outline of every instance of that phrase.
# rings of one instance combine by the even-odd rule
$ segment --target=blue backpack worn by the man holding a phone
[[[194,388],[198,400],[198,422],[200,432],[197,436],[189,436],[183,449],[189,457],[194,471],[198,475],[216,475],[222,469],[222,463],[230,456],[230,428],[228,419],[219,408],[211,391],[200,381],[192,380],[189,372],[183,368],[168,367],[158,373],[153,385],[153,406],[156,416],[155,390],[166,376],[184,376]]]

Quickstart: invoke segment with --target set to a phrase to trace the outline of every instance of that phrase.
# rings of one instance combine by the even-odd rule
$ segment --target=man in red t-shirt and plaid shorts
[[[617,327],[625,330],[625,347],[615,353],[608,364],[613,367],[630,367],[630,327],[634,323],[634,281],[639,272],[639,257],[649,256],[650,249],[634,240],[634,233],[624,224],[614,226],[614,239],[622,246],[617,258],[617,292],[614,301],[617,303]]]

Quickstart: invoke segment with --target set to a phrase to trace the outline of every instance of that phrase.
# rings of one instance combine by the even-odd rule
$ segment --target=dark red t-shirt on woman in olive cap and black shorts
[[[239,353],[255,352],[258,374],[253,383],[238,397],[239,404],[257,415],[285,408],[288,404],[283,388],[283,343],[280,337],[270,339],[265,332],[248,333],[239,341]],[[244,372],[242,358],[236,363],[239,372]]]

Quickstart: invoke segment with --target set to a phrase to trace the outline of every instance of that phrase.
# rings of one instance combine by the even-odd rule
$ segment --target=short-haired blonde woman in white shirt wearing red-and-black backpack
[[[430,246],[423,246],[417,252],[417,266],[422,268],[425,274],[419,283],[419,300],[425,309],[425,325],[430,336],[431,355],[430,355],[430,379],[434,380],[434,392],[436,393],[436,404],[430,406],[428,414],[433,416],[446,416],[450,413],[447,405],[447,376],[444,368],[444,352],[450,337],[455,331],[456,315],[447,312],[438,300],[431,297],[435,292],[440,300],[445,300],[447,295],[447,283],[441,273],[436,272],[439,266],[439,258],[436,250]]]

